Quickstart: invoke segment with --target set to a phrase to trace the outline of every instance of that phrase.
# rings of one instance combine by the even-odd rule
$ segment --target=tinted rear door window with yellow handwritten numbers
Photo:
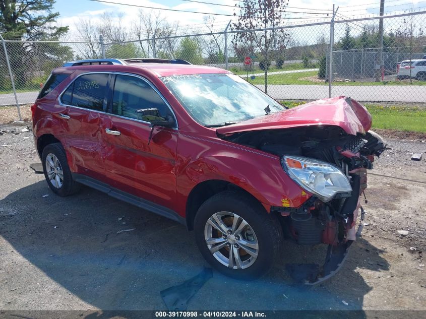
[[[62,103],[102,111],[108,74],[86,74],[77,78],[62,95]]]

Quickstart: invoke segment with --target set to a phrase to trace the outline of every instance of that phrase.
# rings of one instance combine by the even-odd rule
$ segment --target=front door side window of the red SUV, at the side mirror
[[[167,104],[146,81],[126,75],[115,78],[111,113],[144,121],[164,120],[172,115]]]

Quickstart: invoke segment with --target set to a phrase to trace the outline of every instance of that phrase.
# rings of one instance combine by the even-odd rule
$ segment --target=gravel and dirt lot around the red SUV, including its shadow
[[[55,196],[29,168],[39,159],[23,127],[0,125],[0,309],[165,309],[159,292],[207,266],[193,233],[93,189]],[[368,225],[336,276],[312,288],[294,284],[285,263],[322,260],[323,249],[288,245],[257,281],[214,272],[189,309],[426,310],[426,143],[388,146],[369,175]]]

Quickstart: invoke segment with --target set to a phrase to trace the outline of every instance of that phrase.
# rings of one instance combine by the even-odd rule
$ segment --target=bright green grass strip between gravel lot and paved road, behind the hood
[[[285,106],[294,107],[304,101],[283,101]],[[364,104],[373,117],[373,129],[386,129],[426,133],[426,108],[418,106],[396,106]]]

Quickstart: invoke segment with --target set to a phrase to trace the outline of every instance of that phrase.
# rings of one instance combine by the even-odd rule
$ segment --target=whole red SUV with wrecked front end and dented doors
[[[286,109],[229,71],[184,60],[66,63],[32,112],[55,194],[85,184],[185,224],[214,268],[241,279],[275,262],[308,284],[334,274],[385,149],[350,98]],[[284,239],[328,244],[325,264],[288,264]]]

